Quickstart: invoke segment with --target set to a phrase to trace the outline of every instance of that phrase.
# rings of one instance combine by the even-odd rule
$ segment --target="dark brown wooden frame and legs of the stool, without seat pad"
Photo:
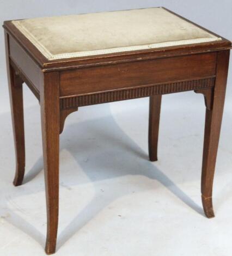
[[[48,60],[10,22],[4,22],[16,149],[15,185],[25,167],[22,81],[40,101],[47,202],[46,253],[56,251],[59,133],[78,107],[150,96],[149,158],[157,160],[161,95],[194,90],[205,97],[202,199],[213,216],[212,182],[221,127],[231,42],[170,46],[99,56]]]

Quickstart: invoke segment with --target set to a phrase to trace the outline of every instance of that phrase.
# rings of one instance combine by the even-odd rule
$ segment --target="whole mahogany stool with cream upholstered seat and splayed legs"
[[[149,157],[157,160],[161,95],[205,97],[202,202],[213,217],[212,184],[231,42],[165,8],[5,21],[16,174],[25,172],[22,83],[40,102],[47,200],[46,253],[56,251],[59,134],[78,107],[150,97]]]

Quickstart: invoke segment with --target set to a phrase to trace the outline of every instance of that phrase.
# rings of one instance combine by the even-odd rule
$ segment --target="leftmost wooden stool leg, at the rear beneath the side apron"
[[[11,105],[11,118],[14,132],[15,142],[15,158],[16,158],[16,171],[14,178],[14,185],[19,186],[22,184],[23,176],[25,173],[25,135],[24,135],[24,122],[23,122],[23,95],[22,83],[23,81],[16,74],[14,68],[10,65],[9,51],[8,51],[8,35],[5,33],[6,57],[7,57],[7,70],[8,70],[8,83],[9,95]]]

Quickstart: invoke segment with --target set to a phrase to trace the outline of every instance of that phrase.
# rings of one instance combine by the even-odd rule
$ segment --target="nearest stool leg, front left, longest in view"
[[[56,252],[59,208],[59,76],[48,72],[41,84],[41,124],[47,203],[47,254]]]

